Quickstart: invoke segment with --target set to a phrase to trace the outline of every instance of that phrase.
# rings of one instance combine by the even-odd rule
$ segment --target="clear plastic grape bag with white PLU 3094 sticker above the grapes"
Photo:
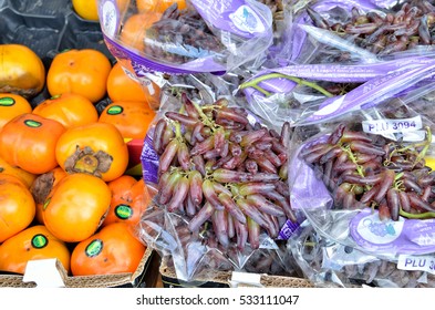
[[[294,128],[290,203],[320,235],[390,258],[434,252],[435,89],[422,81],[377,105],[331,108],[331,117]]]

